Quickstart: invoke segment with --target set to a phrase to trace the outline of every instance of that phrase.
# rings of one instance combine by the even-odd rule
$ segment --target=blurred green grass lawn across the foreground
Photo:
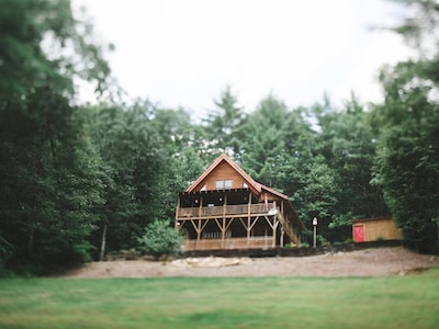
[[[8,279],[0,328],[439,328],[439,269],[364,279]]]

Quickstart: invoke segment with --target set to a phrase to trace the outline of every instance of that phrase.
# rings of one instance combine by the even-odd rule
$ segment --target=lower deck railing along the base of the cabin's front
[[[272,248],[273,237],[251,237],[251,238],[226,238],[222,239],[201,239],[185,240],[185,250],[218,250],[218,249],[252,249]]]

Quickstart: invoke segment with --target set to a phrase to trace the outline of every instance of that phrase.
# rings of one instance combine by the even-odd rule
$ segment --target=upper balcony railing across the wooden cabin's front
[[[177,219],[264,214],[268,213],[269,209],[274,207],[275,207],[274,203],[268,203],[268,204],[257,203],[257,204],[207,206],[207,207],[194,207],[194,208],[178,208]]]

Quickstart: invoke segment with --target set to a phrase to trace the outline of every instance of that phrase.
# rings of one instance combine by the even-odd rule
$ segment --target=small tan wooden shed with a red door
[[[395,220],[391,217],[354,219],[352,237],[356,243],[403,238]]]

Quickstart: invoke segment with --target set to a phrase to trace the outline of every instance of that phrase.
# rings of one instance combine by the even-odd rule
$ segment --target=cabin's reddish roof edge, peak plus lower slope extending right
[[[210,175],[216,167],[218,167],[223,161],[227,162],[247,183],[248,188],[258,194],[262,193],[262,191],[267,191],[271,194],[274,194],[281,198],[288,200],[288,196],[271,189],[261,183],[255,181],[247,172],[244,171],[243,168],[239,167],[229,156],[226,154],[222,154],[217,157],[211,166],[185,190],[185,192],[193,192],[193,190],[207,177]]]

